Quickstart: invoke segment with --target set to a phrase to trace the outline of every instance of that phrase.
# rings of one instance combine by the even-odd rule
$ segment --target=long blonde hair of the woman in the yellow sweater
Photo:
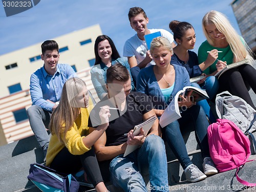
[[[80,113],[75,97],[82,92],[84,86],[86,83],[77,77],[68,79],[63,86],[59,105],[52,113],[49,124],[51,134],[56,134],[60,142],[60,135],[66,135]]]

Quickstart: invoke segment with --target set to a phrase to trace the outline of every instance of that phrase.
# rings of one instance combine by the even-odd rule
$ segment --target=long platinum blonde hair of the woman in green
[[[242,41],[240,35],[234,30],[227,17],[218,11],[209,11],[202,20],[204,35],[211,46],[214,46],[214,41],[209,37],[205,27],[214,24],[216,28],[225,35],[226,41],[230,45],[233,52],[233,62],[241,61],[248,58],[250,63],[254,60],[252,51],[245,41]]]

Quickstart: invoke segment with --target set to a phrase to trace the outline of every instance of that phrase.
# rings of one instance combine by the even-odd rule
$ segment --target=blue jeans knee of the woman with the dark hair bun
[[[219,81],[215,76],[206,77],[204,83],[200,84],[200,87],[204,89],[209,96],[209,100],[214,98],[219,90]]]

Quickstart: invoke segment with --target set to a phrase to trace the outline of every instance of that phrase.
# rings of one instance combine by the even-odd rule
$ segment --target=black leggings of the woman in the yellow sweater
[[[75,174],[83,168],[94,187],[99,182],[103,182],[93,147],[82,155],[72,155],[68,148],[64,147],[56,155],[50,167],[66,174]]]

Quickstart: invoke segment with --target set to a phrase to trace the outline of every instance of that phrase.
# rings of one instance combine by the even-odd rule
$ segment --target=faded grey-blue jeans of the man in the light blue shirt
[[[46,128],[48,128],[50,123],[51,113],[43,110],[40,106],[32,105],[27,109],[27,115],[36,140],[41,149],[45,152],[50,141]]]

